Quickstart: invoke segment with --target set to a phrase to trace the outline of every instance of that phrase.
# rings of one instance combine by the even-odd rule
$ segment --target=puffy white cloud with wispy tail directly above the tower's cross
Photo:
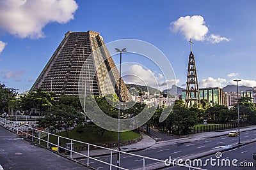
[[[205,25],[204,17],[200,15],[180,17],[171,22],[170,29],[173,32],[183,34],[186,39],[195,39],[196,41],[209,41],[210,43],[220,43],[221,41],[230,41],[230,39],[216,34],[207,36],[209,28]]]

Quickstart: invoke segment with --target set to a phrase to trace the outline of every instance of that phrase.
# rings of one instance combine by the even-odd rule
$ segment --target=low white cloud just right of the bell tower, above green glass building
[[[204,79],[204,80],[201,80],[199,82],[199,87],[202,88],[202,87],[223,87],[225,86],[225,83],[227,82],[227,80],[225,78],[212,78],[212,77],[209,77],[207,79]]]

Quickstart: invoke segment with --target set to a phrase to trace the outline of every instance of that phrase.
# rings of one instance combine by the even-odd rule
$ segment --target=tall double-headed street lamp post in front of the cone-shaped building
[[[120,151],[120,110],[121,110],[121,64],[122,64],[122,52],[127,52],[126,48],[122,50],[115,48],[116,52],[120,52],[120,66],[119,66],[119,104],[118,104],[118,135],[117,135],[117,149]],[[120,152],[117,154],[116,166],[120,166]]]

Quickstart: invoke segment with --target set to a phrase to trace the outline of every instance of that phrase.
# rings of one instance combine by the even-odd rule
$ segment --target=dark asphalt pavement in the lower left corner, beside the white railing
[[[0,169],[88,169],[0,127]]]

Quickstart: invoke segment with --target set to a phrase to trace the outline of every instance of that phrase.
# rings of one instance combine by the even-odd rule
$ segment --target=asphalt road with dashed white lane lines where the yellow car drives
[[[241,143],[243,143],[243,141],[255,138],[256,131],[241,132]],[[157,143],[156,145],[147,148],[146,150],[134,152],[134,154],[143,155],[146,157],[151,157],[159,160],[166,160],[170,156],[172,157],[172,159],[179,159],[184,156],[207,152],[214,148],[230,148],[230,145],[237,142],[238,137],[228,137],[228,135],[216,138],[200,139],[197,141],[190,141],[178,144],[170,144],[170,142],[166,141],[164,143]],[[236,153],[236,150],[234,150],[234,153]],[[97,157],[97,159],[110,162],[110,157],[108,155]],[[79,161],[86,162],[87,159],[81,159]],[[116,156],[113,156],[113,162],[116,162]],[[146,165],[156,163],[157,162],[153,160],[146,160],[145,162]],[[131,155],[123,154],[121,155],[120,164],[122,165],[122,167],[125,167],[127,169],[134,169],[141,167],[143,165],[143,159],[141,159],[140,157],[134,157]],[[99,169],[109,169],[109,166],[106,166],[106,164],[102,164],[95,160],[92,160],[90,165]]]

